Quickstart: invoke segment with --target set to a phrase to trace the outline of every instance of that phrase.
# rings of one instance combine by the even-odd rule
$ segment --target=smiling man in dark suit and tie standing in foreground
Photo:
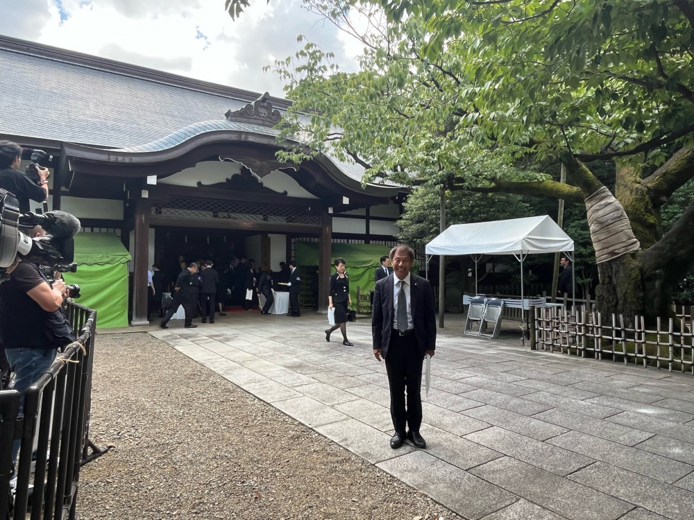
[[[382,357],[386,362],[395,426],[391,448],[401,447],[407,437],[416,447],[424,449],[427,443],[419,433],[422,364],[424,355],[434,356],[436,348],[434,296],[427,279],[409,272],[414,261],[412,248],[396,245],[390,259],[394,273],[378,281],[373,296],[373,355],[378,361]]]

